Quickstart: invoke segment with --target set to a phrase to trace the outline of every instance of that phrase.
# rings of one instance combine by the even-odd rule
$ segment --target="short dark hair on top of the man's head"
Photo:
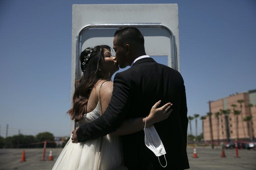
[[[117,43],[137,43],[144,46],[144,37],[136,27],[125,26],[116,30],[114,37],[117,37]]]

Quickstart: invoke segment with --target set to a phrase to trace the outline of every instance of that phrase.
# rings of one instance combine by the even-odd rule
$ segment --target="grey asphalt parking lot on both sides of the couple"
[[[43,149],[25,149],[26,162],[20,162],[23,149],[0,149],[0,170],[51,170],[62,148],[53,148],[54,161],[48,161],[49,149],[42,160]],[[190,170],[256,170],[256,150],[225,149],[225,158],[221,158],[221,149],[197,147],[197,156],[193,158],[193,147],[187,148]]]

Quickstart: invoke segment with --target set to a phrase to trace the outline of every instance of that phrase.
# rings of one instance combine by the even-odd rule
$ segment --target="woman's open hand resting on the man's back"
[[[152,108],[151,111],[147,117],[148,122],[150,122],[151,125],[157,122],[161,122],[165,119],[167,119],[172,110],[170,109],[172,104],[171,103],[166,103],[164,106],[157,108],[161,103],[161,100],[158,101]]]

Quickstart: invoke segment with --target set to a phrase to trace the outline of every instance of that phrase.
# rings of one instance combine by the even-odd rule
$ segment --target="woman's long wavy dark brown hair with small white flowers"
[[[75,82],[75,92],[73,95],[73,107],[67,112],[71,120],[75,119],[75,122],[82,119],[83,114],[88,103],[89,96],[96,82],[101,79],[99,76],[99,65],[104,62],[104,49],[109,51],[111,48],[108,45],[98,45],[92,49],[86,48],[80,55],[81,69],[83,71],[82,77]],[[90,53],[90,54],[89,54]],[[88,58],[88,63],[83,65],[84,59]]]

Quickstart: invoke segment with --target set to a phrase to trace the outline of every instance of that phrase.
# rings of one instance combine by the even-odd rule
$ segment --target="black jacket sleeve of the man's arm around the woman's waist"
[[[125,119],[130,103],[130,84],[123,73],[117,73],[109,106],[101,117],[91,123],[81,125],[76,130],[77,141],[97,139],[115,131]]]

